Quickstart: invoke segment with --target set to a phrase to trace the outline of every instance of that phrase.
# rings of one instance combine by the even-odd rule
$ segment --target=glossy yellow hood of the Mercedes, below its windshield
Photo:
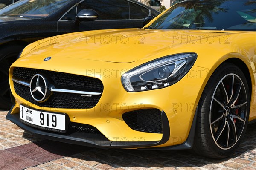
[[[115,63],[171,55],[172,49],[202,43],[207,37],[231,34],[204,30],[116,29],[79,32],[55,37],[30,50],[33,55],[69,57]],[[168,51],[168,52],[166,52]],[[193,51],[190,51],[193,52]]]

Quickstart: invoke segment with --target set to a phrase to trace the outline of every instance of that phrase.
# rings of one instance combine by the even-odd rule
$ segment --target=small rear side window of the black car
[[[130,19],[142,19],[148,17],[149,10],[135,3],[130,3]]]

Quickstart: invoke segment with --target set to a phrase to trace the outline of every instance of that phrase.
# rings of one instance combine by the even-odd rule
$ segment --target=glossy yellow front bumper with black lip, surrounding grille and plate
[[[126,92],[121,84],[122,73],[119,68],[128,70],[127,64],[123,63],[108,63],[100,61],[87,61],[88,67],[84,70],[76,69],[76,65],[84,63],[83,60],[65,58],[65,62],[61,65],[55,65],[54,62],[41,63],[44,56],[38,57],[40,61],[36,64],[28,63],[26,57],[16,61],[9,72],[11,92],[14,95],[13,108],[7,115],[7,119],[17,124],[22,129],[29,131],[35,135],[86,146],[96,147],[117,147],[117,148],[145,148],[145,147],[168,147],[173,149],[188,149],[192,146],[192,139],[195,121],[195,111],[204,84],[207,82],[207,74],[196,74],[193,72],[202,73],[202,68],[193,66],[188,76],[182,78],[176,84],[170,87],[150,90],[145,92]],[[54,59],[52,59],[54,61]],[[136,64],[138,65],[138,64]],[[66,72],[75,75],[83,75],[98,78],[104,84],[104,91],[99,103],[92,109],[58,109],[58,108],[43,108],[26,101],[21,98],[14,89],[12,81],[12,71],[14,67],[26,67],[49,70],[57,69],[59,72]],[[83,68],[82,66],[78,66]],[[118,74],[113,72],[112,76],[104,74],[101,70],[120,70]],[[94,70],[94,73],[88,70]],[[192,72],[193,71],[193,72]],[[207,70],[205,70],[207,71]],[[193,90],[191,90],[193,89]],[[50,133],[42,130],[36,130],[19,121],[20,104],[26,105],[32,109],[44,110],[47,112],[66,113],[71,122],[88,124],[99,130],[102,136],[97,134],[77,133],[64,135],[58,133]],[[163,133],[146,133],[131,129],[125,123],[122,115],[134,110],[140,109],[158,109],[162,111],[162,126]],[[143,140],[140,140],[143,139]],[[179,146],[179,147],[178,147]]]

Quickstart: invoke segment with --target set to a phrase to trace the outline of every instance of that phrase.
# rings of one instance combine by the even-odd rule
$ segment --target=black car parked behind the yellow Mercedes
[[[1,9],[0,108],[11,106],[9,66],[29,43],[69,32],[139,28],[158,14],[136,0],[20,0]]]

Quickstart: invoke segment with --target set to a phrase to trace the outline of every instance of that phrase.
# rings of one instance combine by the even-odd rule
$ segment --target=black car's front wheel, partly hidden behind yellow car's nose
[[[9,68],[23,48],[21,45],[0,47],[0,109],[11,108]]]

